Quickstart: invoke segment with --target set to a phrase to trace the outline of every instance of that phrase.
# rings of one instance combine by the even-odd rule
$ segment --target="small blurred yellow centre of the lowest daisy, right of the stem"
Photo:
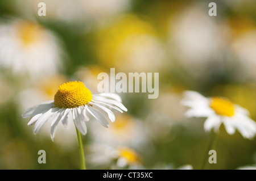
[[[125,158],[128,164],[138,163],[141,161],[137,153],[130,148],[122,147],[118,148],[117,150],[119,151],[119,157]]]

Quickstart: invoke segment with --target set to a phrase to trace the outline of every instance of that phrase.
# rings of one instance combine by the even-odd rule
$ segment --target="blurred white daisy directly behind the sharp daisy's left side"
[[[26,88],[17,94],[18,99],[16,100],[19,112],[21,112],[20,114],[38,103],[53,99],[59,85],[67,81],[68,78],[64,75],[56,74],[49,76],[46,75],[37,79],[37,81],[27,84],[25,86]],[[22,126],[26,130],[31,130],[31,127],[27,127],[27,123],[22,123]],[[35,137],[35,139],[48,140],[50,130],[51,123],[47,122],[40,130],[40,136]],[[77,144],[75,125],[72,124],[68,128],[65,128],[60,124],[55,132],[54,142],[57,146],[61,146],[65,150],[73,149],[73,146],[76,146]]]

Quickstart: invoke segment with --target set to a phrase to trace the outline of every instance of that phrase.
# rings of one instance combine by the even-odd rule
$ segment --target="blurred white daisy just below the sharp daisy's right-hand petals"
[[[90,124],[92,140],[95,143],[105,143],[111,146],[127,145],[132,148],[143,149],[150,144],[147,132],[142,121],[139,121],[127,113],[118,113],[115,123],[108,129],[97,127],[96,123]],[[150,150],[150,149],[149,149]]]

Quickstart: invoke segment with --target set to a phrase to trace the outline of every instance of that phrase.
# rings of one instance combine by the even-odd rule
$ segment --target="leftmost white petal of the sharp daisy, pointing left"
[[[53,106],[54,106],[54,103],[51,101],[48,103],[42,103],[42,104],[39,104],[38,106],[31,107],[22,114],[22,118],[38,115],[39,113],[42,113],[45,110],[49,110],[49,108]]]

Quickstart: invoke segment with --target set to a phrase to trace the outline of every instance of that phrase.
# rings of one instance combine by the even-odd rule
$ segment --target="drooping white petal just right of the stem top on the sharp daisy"
[[[80,108],[73,108],[73,120],[76,125],[76,128],[79,130],[81,134],[86,134],[87,129],[85,125],[84,116],[81,113]]]

